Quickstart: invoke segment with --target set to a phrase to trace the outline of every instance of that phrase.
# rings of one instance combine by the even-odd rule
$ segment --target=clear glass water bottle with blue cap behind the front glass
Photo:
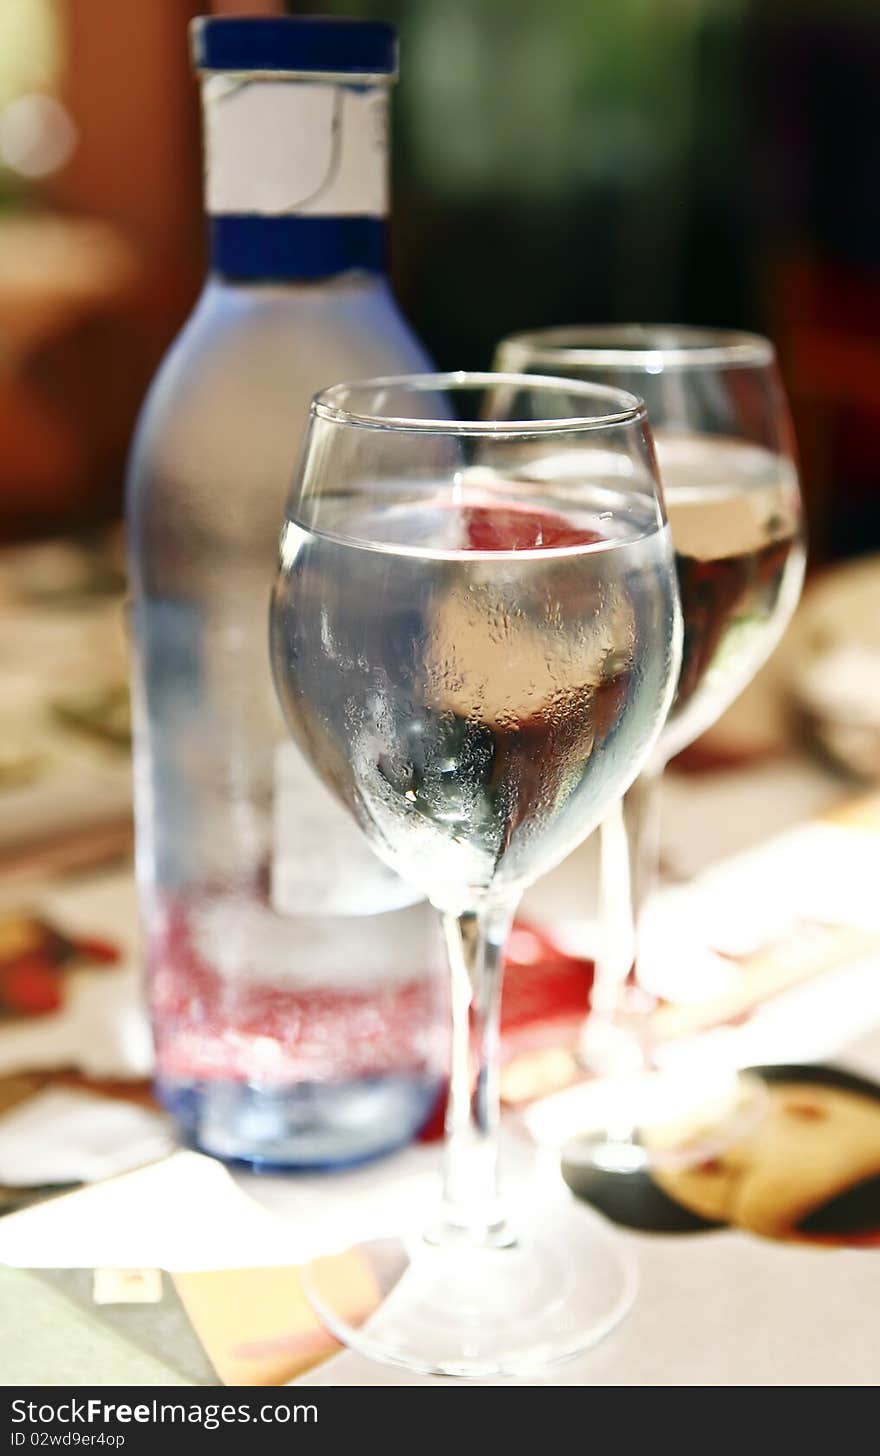
[[[141,412],[127,511],[156,1086],[195,1146],[321,1168],[441,1083],[424,903],[287,740],[267,641],[310,396],[424,368],[386,277],[390,26],[201,19],[210,275]]]

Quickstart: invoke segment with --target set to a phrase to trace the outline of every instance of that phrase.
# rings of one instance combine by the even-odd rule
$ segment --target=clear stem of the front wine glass
[[[452,977],[452,1064],[437,1238],[510,1242],[498,1187],[504,943],[514,904],[441,914]]]

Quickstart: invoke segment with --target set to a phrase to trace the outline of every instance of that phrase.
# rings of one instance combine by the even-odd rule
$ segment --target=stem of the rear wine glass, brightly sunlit
[[[645,769],[599,831],[602,948],[584,1029],[584,1060],[612,1076],[651,1066],[653,997],[638,976],[643,910],[660,874],[663,767]]]

